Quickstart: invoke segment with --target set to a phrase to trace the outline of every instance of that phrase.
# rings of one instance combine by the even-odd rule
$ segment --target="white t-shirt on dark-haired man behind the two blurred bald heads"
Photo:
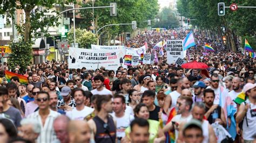
[[[66,116],[68,116],[71,120],[84,120],[84,118],[90,115],[93,111],[93,108],[84,106],[84,109],[81,111],[74,108],[71,111],[66,112]]]

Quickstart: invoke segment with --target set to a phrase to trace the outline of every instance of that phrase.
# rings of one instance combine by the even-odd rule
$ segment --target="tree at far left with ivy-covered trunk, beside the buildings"
[[[48,34],[48,26],[58,26],[58,17],[45,17],[44,13],[58,13],[52,10],[56,4],[62,5],[69,4],[75,0],[19,0],[19,1],[0,1],[0,15],[5,15],[12,18],[14,21],[15,11],[21,10],[24,12],[24,22],[17,24],[19,39],[11,41],[10,48],[12,53],[8,62],[11,63],[10,67],[19,65],[21,69],[25,69],[30,64],[32,58],[32,38],[46,37]],[[16,44],[15,44],[16,43]],[[18,56],[17,56],[18,55]]]

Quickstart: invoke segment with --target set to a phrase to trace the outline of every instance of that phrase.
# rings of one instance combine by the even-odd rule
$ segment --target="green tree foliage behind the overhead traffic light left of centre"
[[[141,23],[147,19],[156,17],[159,6],[157,0],[114,0],[117,3],[117,16],[110,16],[110,9],[95,9],[95,31],[107,24],[131,23],[133,20],[137,22],[138,27],[146,27],[146,23]],[[109,1],[96,1],[94,6],[107,6]],[[83,4],[83,7],[91,7],[92,2]],[[84,18],[81,28],[89,29],[92,25],[92,10],[80,10],[81,16]],[[112,37],[118,33],[132,31],[132,26],[120,25],[105,27],[97,34],[105,34],[105,37]]]

